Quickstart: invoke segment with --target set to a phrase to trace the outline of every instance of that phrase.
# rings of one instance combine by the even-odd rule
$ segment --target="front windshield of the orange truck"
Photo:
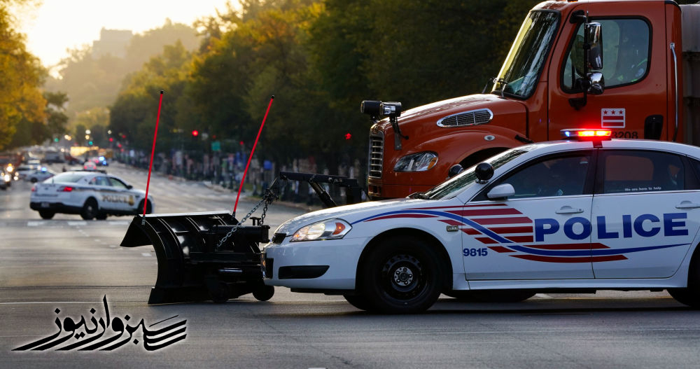
[[[503,91],[523,98],[532,95],[558,25],[559,13],[531,11],[528,14],[498,72],[494,93]]]

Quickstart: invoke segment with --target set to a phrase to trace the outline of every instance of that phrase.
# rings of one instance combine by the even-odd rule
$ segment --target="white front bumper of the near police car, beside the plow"
[[[267,244],[265,284],[318,290],[353,290],[367,237]],[[281,277],[281,278],[280,278]]]

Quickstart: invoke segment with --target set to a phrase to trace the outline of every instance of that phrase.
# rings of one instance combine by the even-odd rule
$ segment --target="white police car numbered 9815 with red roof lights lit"
[[[589,140],[507,150],[404,199],[314,211],[277,228],[265,284],[342,294],[388,313],[440,293],[667,289],[700,307],[700,148]]]

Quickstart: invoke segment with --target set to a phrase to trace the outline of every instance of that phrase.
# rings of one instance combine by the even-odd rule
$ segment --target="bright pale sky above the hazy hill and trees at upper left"
[[[235,1],[232,1],[237,4]],[[66,49],[99,39],[102,27],[141,33],[162,26],[166,18],[190,25],[197,18],[223,11],[226,0],[43,0],[38,8],[17,14],[29,51],[52,67]]]

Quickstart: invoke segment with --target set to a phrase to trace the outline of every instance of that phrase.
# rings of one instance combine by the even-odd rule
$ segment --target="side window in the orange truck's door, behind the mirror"
[[[629,85],[647,74],[649,26],[640,19],[595,20],[603,28],[603,76],[605,88]],[[561,70],[562,88],[580,92],[576,81],[583,75],[583,25],[573,37]]]

